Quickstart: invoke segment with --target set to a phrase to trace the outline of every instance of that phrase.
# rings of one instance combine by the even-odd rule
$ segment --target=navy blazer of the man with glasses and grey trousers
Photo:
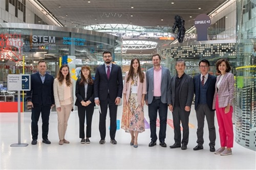
[[[195,92],[195,110],[197,109],[199,102],[199,92],[200,92],[200,84],[201,84],[201,74],[197,75],[193,79],[194,82],[194,92]],[[215,93],[215,84],[216,84],[216,76],[212,76],[208,74],[208,79],[206,81],[209,83],[209,86],[206,91],[206,103],[211,111],[212,110],[212,102],[214,101],[214,93]]]

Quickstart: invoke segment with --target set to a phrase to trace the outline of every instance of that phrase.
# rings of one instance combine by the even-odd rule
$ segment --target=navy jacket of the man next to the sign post
[[[27,101],[31,101],[33,105],[46,106],[54,105],[54,95],[53,95],[53,76],[46,73],[45,82],[42,83],[39,72],[32,74],[31,79],[31,89],[26,91]]]

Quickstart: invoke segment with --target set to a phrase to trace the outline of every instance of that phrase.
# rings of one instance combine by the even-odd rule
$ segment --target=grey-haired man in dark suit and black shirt
[[[188,117],[190,114],[190,108],[194,97],[194,84],[193,78],[185,74],[185,61],[178,59],[176,61],[175,68],[177,75],[171,80],[171,104],[169,110],[173,112],[174,122],[174,140],[175,143],[170,148],[180,148],[182,143],[182,150],[187,149],[188,143]],[[181,141],[180,122],[183,128],[183,137]]]

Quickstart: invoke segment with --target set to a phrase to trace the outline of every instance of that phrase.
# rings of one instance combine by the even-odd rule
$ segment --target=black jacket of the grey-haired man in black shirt
[[[172,77],[171,82],[171,95],[172,95],[172,100],[171,104],[173,107],[175,106],[175,81],[176,81],[176,75]],[[180,107],[181,109],[185,109],[185,106],[191,107],[193,97],[194,97],[194,84],[193,84],[193,78],[190,77],[189,75],[186,75],[184,73],[184,76],[182,78],[182,82],[180,85],[180,91],[179,91],[179,97],[180,97]]]

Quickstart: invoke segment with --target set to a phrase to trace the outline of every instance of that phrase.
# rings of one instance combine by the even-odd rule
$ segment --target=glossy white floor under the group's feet
[[[147,107],[145,118],[149,122]],[[118,119],[121,119],[122,107],[118,107]],[[150,129],[139,134],[139,147],[130,146],[130,134],[122,129],[116,133],[117,145],[110,143],[109,131],[106,143],[100,145],[98,131],[98,109],[93,116],[93,131],[90,144],[80,144],[77,111],[71,113],[66,139],[70,144],[58,144],[57,114],[50,115],[49,139],[52,144],[41,142],[41,119],[39,120],[38,144],[31,145],[31,113],[22,113],[21,142],[27,147],[10,147],[18,142],[17,113],[0,113],[1,119],[1,169],[255,169],[254,151],[241,147],[234,142],[233,154],[215,155],[209,152],[207,123],[205,122],[204,150],[193,151],[197,145],[197,120],[194,109],[190,113],[188,149],[170,149],[174,143],[174,132],[167,125],[167,148],[162,148],[159,141],[149,148]],[[109,116],[109,115],[108,115]],[[168,119],[172,114],[168,112]],[[109,123],[109,117],[107,118]],[[218,125],[216,149],[220,147]],[[159,129],[158,129],[159,130]]]

